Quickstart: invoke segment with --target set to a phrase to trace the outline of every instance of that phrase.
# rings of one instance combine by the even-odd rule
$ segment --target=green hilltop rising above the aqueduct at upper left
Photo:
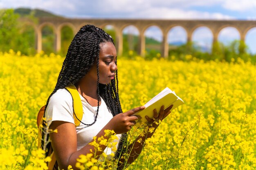
[[[29,9],[29,8],[17,8],[14,9],[14,13],[18,13],[20,16],[32,15],[34,17],[62,17],[60,15],[55,15],[48,11],[41,9]]]

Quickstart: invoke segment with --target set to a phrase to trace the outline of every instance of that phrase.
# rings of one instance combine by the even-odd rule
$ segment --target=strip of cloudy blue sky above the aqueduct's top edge
[[[256,19],[256,0],[0,0],[17,7],[72,18]]]

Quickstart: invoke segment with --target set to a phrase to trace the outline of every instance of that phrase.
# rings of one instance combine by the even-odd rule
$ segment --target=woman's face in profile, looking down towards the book
[[[115,78],[117,65],[117,51],[112,42],[104,42],[100,44],[99,51],[99,83],[109,84],[111,79]],[[87,74],[92,81],[97,82],[97,65],[94,64]]]

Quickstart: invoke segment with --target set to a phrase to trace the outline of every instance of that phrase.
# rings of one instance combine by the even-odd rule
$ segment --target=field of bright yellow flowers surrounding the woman
[[[185,102],[127,169],[256,169],[256,66],[187,58],[118,59],[124,111],[145,104],[166,86]],[[0,169],[47,169],[44,152],[37,149],[36,116],[54,89],[63,59],[0,53]]]

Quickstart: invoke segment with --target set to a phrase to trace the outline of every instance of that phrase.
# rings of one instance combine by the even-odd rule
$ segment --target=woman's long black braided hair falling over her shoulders
[[[104,42],[113,42],[113,39],[110,35],[108,35],[105,31],[100,28],[95,27],[94,25],[85,25],[83,26],[78,33],[74,36],[72,40],[65,60],[63,62],[61,71],[58,75],[56,86],[49,95],[47,99],[47,103],[45,106],[45,110],[48,106],[50,97],[58,90],[69,86],[70,84],[77,84],[80,79],[82,79],[88,71],[92,68],[94,63],[97,64],[97,97],[98,97],[98,107],[97,113],[94,118],[94,124],[96,122],[98,112],[99,112],[99,101],[100,96],[110,109],[113,116],[122,113],[121,104],[119,101],[118,95],[118,78],[117,78],[117,70],[116,79],[112,79],[109,84],[100,84],[99,83],[99,51],[100,51],[100,43]],[[115,61],[117,64],[117,61]],[[45,121],[43,122],[43,126],[45,125]],[[85,124],[91,126],[92,124]],[[44,133],[43,139],[44,139]],[[49,136],[47,137],[49,138]],[[126,134],[123,134],[121,140],[119,142],[119,147],[117,149],[116,158],[120,157],[120,152],[123,148],[123,144],[126,138]],[[44,141],[42,140],[41,146],[44,146]],[[50,147],[50,143],[47,144],[46,148]],[[46,155],[48,155],[49,149],[46,150]]]

